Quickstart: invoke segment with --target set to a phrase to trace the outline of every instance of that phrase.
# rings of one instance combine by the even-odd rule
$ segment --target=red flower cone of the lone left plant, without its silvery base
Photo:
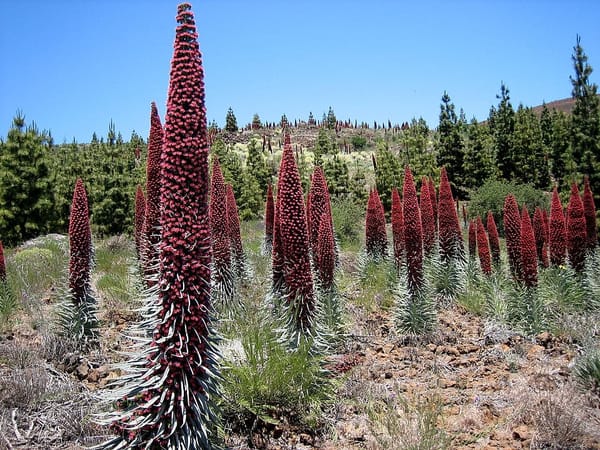
[[[92,232],[85,187],[81,178],[75,183],[71,216],[69,218],[69,289],[73,303],[79,306],[85,301],[90,284],[92,264]]]

